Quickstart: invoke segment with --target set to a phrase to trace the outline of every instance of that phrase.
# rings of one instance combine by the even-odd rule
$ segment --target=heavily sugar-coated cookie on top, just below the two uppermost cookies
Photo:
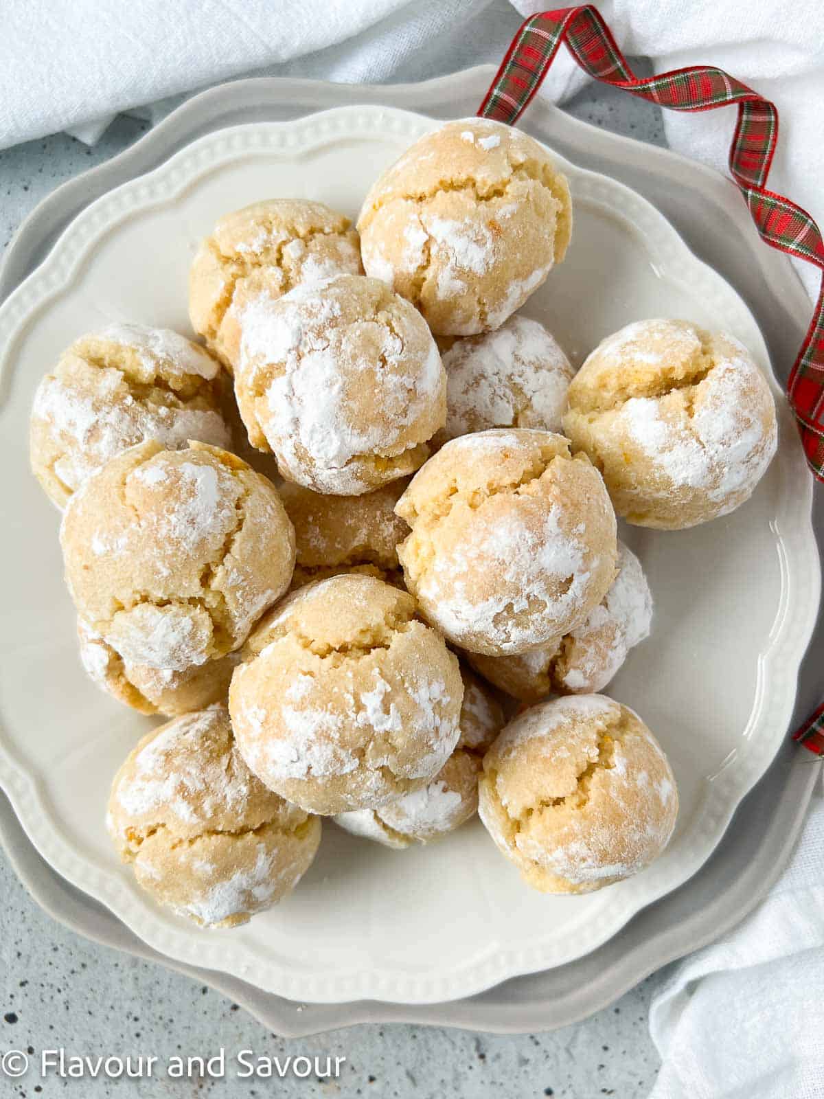
[[[240,314],[235,395],[249,441],[288,480],[359,496],[417,469],[446,420],[446,375],[421,314],[342,275]]]

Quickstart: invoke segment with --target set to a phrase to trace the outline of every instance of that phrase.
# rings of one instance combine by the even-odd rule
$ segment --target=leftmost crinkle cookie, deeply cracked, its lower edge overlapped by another
[[[34,398],[32,470],[63,508],[115,455],[154,439],[229,446],[220,364],[204,347],[141,324],[110,324],[76,340]]]

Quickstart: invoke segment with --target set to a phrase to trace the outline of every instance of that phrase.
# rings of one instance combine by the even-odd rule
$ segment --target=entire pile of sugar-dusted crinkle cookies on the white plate
[[[322,817],[407,848],[479,810],[549,892],[666,847],[670,766],[599,693],[653,617],[616,513],[737,508],[776,412],[746,348],[688,321],[636,321],[575,373],[516,312],[571,227],[541,145],[448,123],[357,231],[298,199],[221,219],[191,268],[204,344],[116,324],[43,379],[32,466],[83,666],[171,718],[108,814],[158,902],[244,922],[298,884]]]

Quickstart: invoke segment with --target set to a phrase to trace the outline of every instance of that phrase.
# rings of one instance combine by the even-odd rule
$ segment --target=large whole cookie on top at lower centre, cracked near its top
[[[310,812],[378,808],[426,786],[459,736],[457,658],[374,577],[308,585],[249,637],[229,707],[243,756]]]

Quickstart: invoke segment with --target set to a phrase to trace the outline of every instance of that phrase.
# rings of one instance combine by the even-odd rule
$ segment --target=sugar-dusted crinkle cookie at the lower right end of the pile
[[[660,855],[678,792],[637,714],[603,695],[577,695],[506,725],[483,758],[478,811],[533,889],[582,893]]]

